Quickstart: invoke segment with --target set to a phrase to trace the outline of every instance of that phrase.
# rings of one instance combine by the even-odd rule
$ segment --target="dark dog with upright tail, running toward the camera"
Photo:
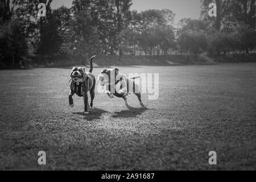
[[[84,97],[84,111],[88,113],[88,92],[90,92],[90,108],[93,107],[93,100],[95,96],[96,79],[92,74],[93,64],[92,61],[95,56],[90,59],[90,71],[85,72],[85,67],[73,67],[71,71],[71,86],[69,93],[69,105],[74,106],[72,96],[76,93],[79,97]]]

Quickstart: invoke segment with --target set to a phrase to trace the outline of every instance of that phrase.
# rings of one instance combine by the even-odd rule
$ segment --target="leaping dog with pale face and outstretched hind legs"
[[[135,84],[134,80],[139,77],[127,78],[124,74],[119,73],[119,69],[103,69],[101,71],[98,80],[100,81],[101,86],[106,85],[106,94],[110,98],[119,97],[125,100],[125,105],[127,104],[127,96],[130,93],[134,93],[139,100],[141,106],[143,102],[141,100],[141,92],[139,90],[139,85]]]

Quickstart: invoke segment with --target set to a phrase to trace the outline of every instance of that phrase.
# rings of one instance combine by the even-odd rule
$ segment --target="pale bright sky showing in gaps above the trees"
[[[52,8],[65,5],[72,6],[72,0],[53,0]],[[201,0],[133,0],[132,10],[144,11],[148,9],[170,9],[175,16],[175,23],[182,18],[198,19],[200,16]]]

